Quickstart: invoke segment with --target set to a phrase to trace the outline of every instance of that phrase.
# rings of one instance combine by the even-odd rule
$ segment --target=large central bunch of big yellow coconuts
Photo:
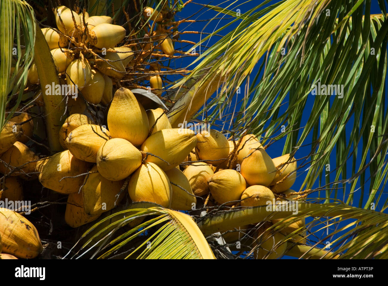
[[[124,190],[135,202],[190,210],[196,197],[178,165],[196,146],[194,132],[172,129],[162,109],[146,112],[126,88],[114,94],[107,125],[70,115],[59,133],[67,150],[36,164],[44,187],[69,195],[66,222],[78,227],[97,219]]]

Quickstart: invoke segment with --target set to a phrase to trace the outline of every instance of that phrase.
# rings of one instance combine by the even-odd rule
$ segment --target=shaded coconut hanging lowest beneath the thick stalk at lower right
[[[287,249],[287,243],[280,244],[284,238],[285,236],[281,233],[272,234],[266,231],[256,240],[258,246],[255,250],[255,259],[277,259],[281,257]]]

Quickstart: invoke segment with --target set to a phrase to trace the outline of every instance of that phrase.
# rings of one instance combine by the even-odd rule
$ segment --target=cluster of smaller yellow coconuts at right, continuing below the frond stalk
[[[271,159],[253,134],[245,135],[240,140],[227,140],[216,130],[204,131],[196,136],[197,145],[190,153],[190,158],[187,158],[194,163],[187,166],[184,174],[189,178],[195,195],[207,196],[210,193],[213,200],[208,205],[257,207],[273,202],[287,203],[298,197],[290,190],[296,179],[297,167],[296,160],[290,154]],[[279,221],[281,219],[272,220],[269,226]],[[300,220],[284,227],[282,231],[284,234],[293,233],[304,225],[304,220]],[[235,242],[250,228],[249,225],[241,226],[235,232],[227,232],[224,239],[227,243]],[[305,236],[305,229],[301,233]],[[264,250],[271,250],[284,235],[266,233],[261,227],[256,231],[256,237],[260,237],[262,245],[255,255],[256,258],[263,258],[268,253]],[[295,238],[300,243],[306,242],[299,233]],[[271,252],[268,258],[280,257],[286,244],[283,243],[281,247],[284,249]]]

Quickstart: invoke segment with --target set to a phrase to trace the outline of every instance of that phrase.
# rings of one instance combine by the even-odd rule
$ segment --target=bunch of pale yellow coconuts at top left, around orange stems
[[[116,47],[125,38],[125,28],[112,24],[109,16],[89,17],[87,12],[76,14],[65,6],[55,9],[55,20],[57,29],[43,28],[42,32],[57,72],[66,75],[66,83],[73,91],[77,86],[88,102],[109,103],[112,78],[123,78],[134,57],[131,48]],[[38,83],[35,64],[29,69],[28,80]]]

